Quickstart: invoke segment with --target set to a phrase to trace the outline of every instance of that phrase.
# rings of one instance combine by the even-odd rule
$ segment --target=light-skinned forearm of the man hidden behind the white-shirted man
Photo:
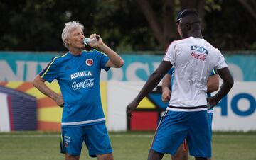
[[[164,103],[170,101],[171,98],[171,74],[166,74],[162,81],[162,96],[161,99]]]

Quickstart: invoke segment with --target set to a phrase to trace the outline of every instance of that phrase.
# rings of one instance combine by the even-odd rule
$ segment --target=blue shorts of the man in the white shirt
[[[207,111],[166,111],[156,129],[151,149],[175,155],[184,139],[188,142],[191,156],[211,157]]]

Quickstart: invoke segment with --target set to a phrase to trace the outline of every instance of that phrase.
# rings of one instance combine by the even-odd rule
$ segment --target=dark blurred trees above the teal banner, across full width
[[[64,51],[64,23],[80,21],[118,51],[165,50],[176,14],[196,8],[203,36],[220,50],[256,50],[255,0],[0,1],[0,50]]]

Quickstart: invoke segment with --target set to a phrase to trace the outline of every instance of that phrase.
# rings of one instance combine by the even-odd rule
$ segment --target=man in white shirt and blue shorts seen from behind
[[[130,117],[139,102],[175,66],[171,101],[156,129],[148,160],[160,160],[164,154],[174,156],[183,139],[188,142],[190,154],[196,160],[211,157],[207,106],[208,103],[216,105],[233,86],[233,77],[223,55],[203,39],[198,13],[185,9],[178,13],[177,19],[182,40],[171,42],[159,67],[127,105],[127,116]],[[207,79],[213,69],[217,70],[223,84],[218,93],[206,101]]]

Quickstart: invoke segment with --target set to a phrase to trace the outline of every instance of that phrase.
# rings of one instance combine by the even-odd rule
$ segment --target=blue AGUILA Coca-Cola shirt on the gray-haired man
[[[75,127],[105,122],[100,98],[100,71],[109,57],[97,50],[75,56],[67,52],[54,57],[39,74],[48,82],[56,79],[63,96],[61,127]]]

